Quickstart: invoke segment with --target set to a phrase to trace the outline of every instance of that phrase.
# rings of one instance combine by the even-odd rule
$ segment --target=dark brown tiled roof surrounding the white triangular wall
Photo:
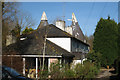
[[[70,34],[61,31],[59,28],[56,28],[54,25],[48,25],[46,27],[41,27],[30,34],[22,35],[21,37],[25,37],[25,40],[21,40],[16,42],[15,44],[9,45],[6,51],[17,51],[19,54],[43,54],[43,43],[44,43],[44,35],[45,29],[48,29],[47,37],[71,37]],[[55,55],[55,56],[71,56],[73,55],[66,51],[65,49],[55,45],[50,41],[46,41],[46,55]]]

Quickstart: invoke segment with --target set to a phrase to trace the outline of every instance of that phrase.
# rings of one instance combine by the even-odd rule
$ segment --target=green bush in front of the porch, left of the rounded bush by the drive
[[[68,64],[52,64],[50,75],[52,79],[62,79],[62,78],[73,78],[75,77],[75,72],[70,69]]]

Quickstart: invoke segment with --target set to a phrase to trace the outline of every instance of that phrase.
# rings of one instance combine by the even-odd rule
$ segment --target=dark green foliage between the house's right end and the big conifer
[[[101,64],[101,56],[102,54],[100,54],[99,52],[95,53],[94,51],[91,51],[87,54],[87,59],[94,63],[95,66],[97,66],[97,68],[99,69]]]

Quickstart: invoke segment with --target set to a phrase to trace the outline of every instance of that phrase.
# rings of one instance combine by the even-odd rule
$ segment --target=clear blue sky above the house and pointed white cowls
[[[21,2],[19,8],[32,16],[36,23],[34,29],[38,27],[43,11],[49,24],[59,18],[66,21],[66,26],[71,25],[67,19],[71,19],[74,12],[83,34],[87,36],[94,33],[101,17],[107,19],[109,15],[118,23],[118,2]]]

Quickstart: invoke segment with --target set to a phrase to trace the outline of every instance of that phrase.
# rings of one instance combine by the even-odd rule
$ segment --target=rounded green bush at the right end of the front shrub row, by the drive
[[[83,65],[77,64],[75,66],[76,77],[82,80],[85,78],[94,78],[98,71],[98,68],[89,61],[85,62]]]

